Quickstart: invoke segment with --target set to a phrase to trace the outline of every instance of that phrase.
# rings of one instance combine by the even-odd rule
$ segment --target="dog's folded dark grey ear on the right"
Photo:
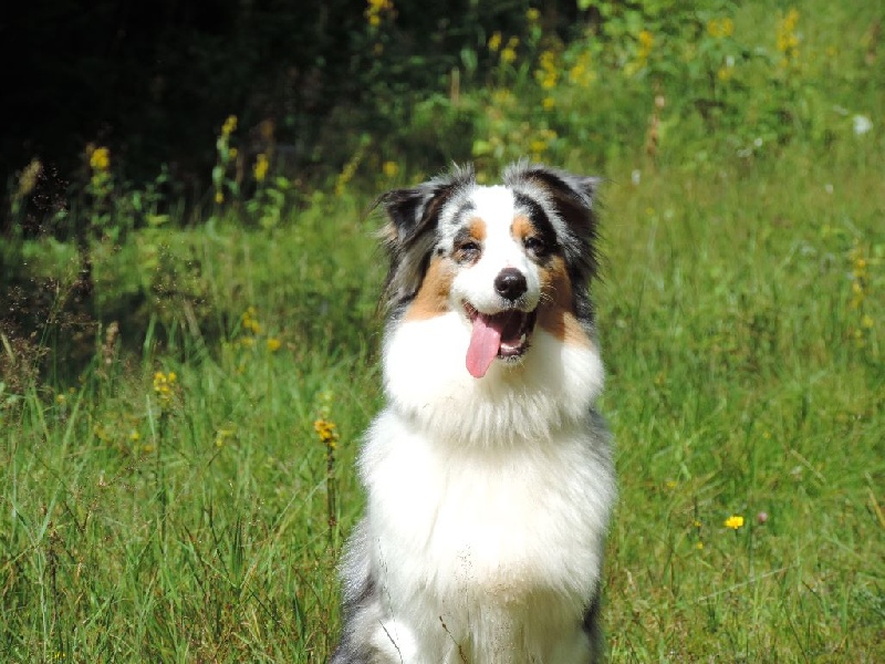
[[[594,203],[602,179],[521,162],[504,172],[504,184],[540,188],[556,214],[579,237],[596,234]]]

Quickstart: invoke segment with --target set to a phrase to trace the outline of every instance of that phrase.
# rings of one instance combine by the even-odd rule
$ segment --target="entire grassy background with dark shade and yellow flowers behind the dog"
[[[0,660],[325,661],[366,211],[521,157],[606,177],[611,658],[885,660],[879,6],[81,10],[0,40]]]

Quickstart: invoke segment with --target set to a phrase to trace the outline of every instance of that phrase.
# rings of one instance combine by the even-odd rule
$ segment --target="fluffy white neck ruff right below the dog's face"
[[[518,446],[583,422],[602,392],[593,343],[565,343],[538,329],[518,362],[496,361],[475,378],[465,369],[469,333],[452,313],[395,322],[384,347],[389,407],[447,445]]]

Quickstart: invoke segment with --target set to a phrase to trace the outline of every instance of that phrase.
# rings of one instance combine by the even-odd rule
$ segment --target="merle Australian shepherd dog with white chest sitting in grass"
[[[520,162],[383,195],[386,406],[332,664],[603,656],[616,485],[590,281],[600,180]]]

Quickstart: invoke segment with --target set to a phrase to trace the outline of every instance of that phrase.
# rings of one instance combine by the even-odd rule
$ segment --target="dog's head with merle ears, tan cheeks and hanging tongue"
[[[518,361],[538,325],[590,342],[598,180],[527,163],[481,186],[472,168],[381,197],[389,222],[386,300],[394,319],[455,312],[470,335],[476,378]]]

